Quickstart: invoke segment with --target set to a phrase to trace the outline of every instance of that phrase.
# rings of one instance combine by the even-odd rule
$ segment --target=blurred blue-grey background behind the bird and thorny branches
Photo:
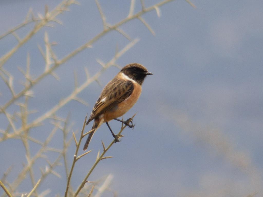
[[[52,10],[61,1],[8,1],[0,0],[0,35],[23,22],[29,8],[45,15],[45,5]],[[127,17],[130,1],[100,0],[107,23],[113,25]],[[159,1],[145,0],[145,7]],[[34,78],[45,69],[45,61],[38,45],[45,50],[44,36],[58,59],[62,59],[103,30],[102,18],[95,1],[79,1],[70,5],[69,12],[58,15],[62,25],[43,27],[7,60],[3,68],[14,77],[14,91],[23,89],[24,75],[18,67],[26,70],[27,54],[30,57],[30,74]],[[153,29],[153,35],[139,20],[133,19],[120,28],[129,37],[139,41],[125,52],[116,64],[143,64],[154,75],[147,77],[143,91],[135,106],[124,115],[128,119],[134,113],[134,129],[125,128],[120,143],[113,144],[106,156],[89,177],[95,181],[113,175],[110,190],[102,196],[262,196],[263,165],[263,1],[193,1],[196,9],[183,0],[171,1],[161,6],[160,18],[155,10],[142,15]],[[141,2],[135,1],[135,13],[141,10]],[[16,31],[23,38],[34,24]],[[6,54],[16,44],[10,34],[0,40],[0,54]],[[29,110],[37,110],[28,116],[28,122],[57,105],[74,90],[74,75],[81,85],[86,80],[84,67],[90,76],[102,69],[97,62],[109,62],[116,47],[122,50],[130,41],[117,31],[110,31],[68,61],[55,72],[59,81],[48,75],[31,89]],[[90,114],[102,87],[119,71],[110,66],[99,76],[99,83],[92,82],[78,94],[89,104],[85,106],[70,101],[56,112],[66,118],[79,137],[86,114]],[[75,74],[74,74],[75,73]],[[101,84],[101,85],[99,85]],[[102,86],[102,87],[101,87]],[[0,106],[12,95],[1,79]],[[24,102],[21,97],[16,103]],[[20,108],[15,103],[6,111],[13,114]],[[21,121],[15,122],[17,128]],[[0,129],[8,127],[6,116],[0,114]],[[92,124],[86,127],[89,131]],[[111,121],[117,133],[120,124]],[[43,126],[30,129],[30,136],[44,141],[52,130],[50,119]],[[11,132],[11,131],[10,131]],[[0,134],[3,137],[3,134]],[[57,132],[50,147],[63,147],[63,134]],[[91,153],[81,158],[72,175],[73,189],[81,183],[93,165],[98,150],[102,151],[112,136],[104,124],[95,133],[89,149]],[[84,145],[84,142],[82,142]],[[29,142],[34,155],[41,146]],[[81,148],[83,145],[80,145]],[[0,178],[13,166],[6,178],[13,182],[27,163],[25,148],[19,139],[7,139],[0,143]],[[67,153],[71,166],[75,153],[74,142]],[[80,154],[82,154],[82,150]],[[50,161],[57,155],[45,153]],[[33,157],[33,156],[32,156]],[[49,174],[38,188],[41,193],[50,189],[48,196],[64,195],[66,175],[64,163],[55,167],[61,178]],[[39,158],[33,167],[35,179],[41,176],[39,168],[48,165]],[[30,183],[30,184],[29,184]],[[29,174],[18,191],[30,191]],[[2,192],[3,190],[1,190]],[[20,195],[21,196],[21,195]]]

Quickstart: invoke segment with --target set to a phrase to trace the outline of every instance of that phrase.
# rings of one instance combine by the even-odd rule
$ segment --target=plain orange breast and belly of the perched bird
[[[114,111],[107,111],[104,113],[104,122],[108,122],[114,118],[118,118],[120,116],[123,116],[129,109],[136,103],[138,98],[141,94],[141,86],[137,83],[134,83],[134,90],[131,93],[131,95],[126,98],[124,101],[120,102],[116,110]]]

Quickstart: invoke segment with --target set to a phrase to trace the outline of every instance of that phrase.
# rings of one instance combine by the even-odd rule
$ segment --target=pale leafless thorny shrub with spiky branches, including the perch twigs
[[[78,187],[78,189],[74,193],[73,189],[70,186],[70,179],[71,179],[71,176],[73,173],[75,163],[80,158],[82,158],[84,155],[86,155],[90,152],[90,151],[87,151],[87,152],[77,156],[78,149],[80,146],[80,142],[81,142],[82,138],[85,135],[87,135],[89,132],[83,134],[84,128],[85,128],[85,123],[84,123],[82,132],[80,134],[79,141],[77,142],[77,139],[75,137],[74,132],[73,132],[73,137],[71,137],[67,141],[67,136],[69,133],[69,128],[67,127],[68,118],[66,120],[64,120],[63,118],[59,118],[59,117],[55,116],[55,113],[71,100],[77,100],[78,102],[83,103],[84,105],[88,105],[87,102],[85,102],[81,98],[77,97],[77,95],[80,92],[82,92],[92,82],[96,81],[99,83],[99,81],[98,81],[99,76],[105,70],[107,70],[110,66],[116,66],[116,67],[120,68],[120,66],[118,66],[116,63],[117,59],[120,58],[120,56],[122,56],[127,50],[129,50],[136,42],[138,42],[138,39],[132,40],[129,37],[129,35],[120,28],[121,25],[129,22],[130,20],[138,19],[145,25],[146,28],[149,29],[149,31],[152,34],[154,34],[153,29],[146,22],[146,20],[144,20],[142,18],[142,15],[146,12],[150,12],[151,10],[155,10],[158,17],[160,17],[160,6],[162,6],[168,2],[171,2],[171,1],[174,1],[174,0],[164,0],[164,1],[161,1],[159,3],[156,3],[153,6],[146,7],[144,1],[140,0],[142,9],[141,9],[141,11],[134,13],[135,0],[131,0],[130,10],[129,10],[128,16],[126,18],[122,19],[120,22],[118,22],[114,25],[110,25],[106,21],[106,17],[105,17],[105,14],[103,13],[103,9],[99,4],[99,0],[95,0],[97,7],[98,7],[98,10],[99,10],[99,13],[100,13],[100,16],[102,18],[102,23],[103,23],[102,32],[98,33],[94,38],[90,39],[88,42],[79,46],[77,49],[73,50],[68,55],[65,55],[62,59],[57,58],[57,55],[54,53],[54,51],[52,49],[52,45],[54,45],[55,43],[50,43],[48,33],[45,32],[45,34],[44,34],[45,50],[43,50],[41,48],[41,46],[38,45],[39,51],[40,51],[40,53],[43,56],[43,59],[45,61],[44,71],[41,75],[34,78],[30,73],[30,55],[27,54],[26,69],[23,70],[21,68],[18,68],[22,72],[22,74],[24,75],[24,78],[26,79],[25,83],[23,84],[24,88],[18,93],[16,93],[15,88],[14,88],[14,84],[13,84],[14,77],[12,76],[12,74],[10,74],[7,70],[5,70],[3,68],[4,64],[6,63],[6,61],[9,58],[11,58],[14,55],[14,53],[21,46],[23,46],[26,42],[28,42],[33,37],[33,35],[36,34],[41,28],[43,28],[45,26],[52,27],[52,24],[50,24],[50,22],[56,22],[56,23],[61,24],[61,22],[56,17],[59,14],[63,13],[64,11],[68,11],[68,7],[71,4],[78,4],[78,2],[75,0],[63,0],[57,7],[55,7],[50,12],[48,11],[48,7],[46,6],[44,16],[42,16],[41,14],[38,14],[37,18],[33,15],[32,10],[30,9],[27,16],[26,16],[26,19],[24,20],[23,23],[19,24],[18,26],[14,27],[13,29],[9,30],[8,32],[0,35],[0,40],[9,34],[12,34],[16,38],[16,40],[18,41],[18,44],[16,46],[14,46],[10,51],[8,51],[6,54],[4,54],[2,57],[0,57],[0,77],[3,79],[4,83],[7,85],[8,89],[12,95],[11,99],[9,101],[7,101],[4,105],[0,106],[0,113],[3,113],[3,115],[5,115],[5,117],[8,120],[8,123],[9,123],[9,125],[5,131],[0,129],[0,132],[2,133],[2,136],[0,138],[0,142],[7,140],[7,139],[10,139],[10,138],[20,139],[23,142],[23,145],[25,147],[26,158],[27,158],[27,164],[24,165],[23,169],[18,174],[17,178],[13,181],[13,183],[9,184],[5,180],[8,173],[2,179],[2,181],[10,188],[9,189],[10,196],[12,196],[12,194],[16,192],[18,186],[22,183],[22,181],[26,178],[26,176],[28,174],[29,174],[29,178],[31,180],[31,184],[33,186],[33,189],[28,194],[28,196],[30,196],[30,195],[44,196],[44,193],[43,194],[37,194],[37,191],[36,191],[37,187],[43,182],[45,177],[47,177],[47,175],[49,175],[49,174],[54,174],[57,177],[60,177],[60,175],[54,171],[54,168],[60,164],[59,162],[61,159],[64,159],[65,172],[67,175],[67,187],[66,187],[66,191],[65,191],[65,196],[67,196],[67,194],[69,194],[70,196],[74,195],[76,197],[79,194],[80,190],[83,191],[83,186],[85,185],[85,183],[87,183],[87,179],[89,178],[89,175],[92,173],[92,171],[94,170],[96,165],[99,163],[99,161],[103,160],[103,159],[111,158],[110,156],[104,157],[104,155],[108,151],[108,149],[112,146],[113,142],[111,142],[108,147],[105,147],[104,143],[102,142],[103,152],[101,154],[100,154],[100,152],[98,152],[97,159],[96,159],[95,163],[93,164],[93,166],[89,170],[87,176],[84,178],[84,180],[82,181],[82,183],[80,184],[80,186]],[[191,4],[193,6],[193,4],[189,0],[185,0],[185,1],[187,1],[189,4]],[[16,31],[22,27],[25,27],[29,23],[34,23],[33,29],[30,30],[24,38],[20,38]],[[125,38],[127,38],[130,41],[130,43],[127,46],[125,46],[122,50],[120,50],[120,51],[117,50],[115,53],[115,56],[108,63],[103,63],[102,61],[98,60],[98,63],[100,63],[102,65],[102,69],[100,71],[98,71],[97,73],[95,73],[93,76],[89,76],[88,69],[85,68],[87,79],[83,84],[78,85],[77,76],[75,76],[75,88],[67,97],[63,98],[60,102],[57,103],[57,105],[55,105],[53,108],[46,111],[41,116],[37,117],[32,122],[28,122],[28,115],[35,112],[35,111],[29,111],[29,109],[28,109],[29,108],[28,107],[28,100],[30,99],[30,97],[33,97],[33,91],[31,90],[32,87],[34,87],[36,84],[38,84],[47,75],[52,75],[58,80],[59,76],[54,72],[55,69],[57,69],[60,65],[67,62],[69,59],[71,59],[72,57],[74,57],[75,55],[77,55],[78,53],[83,51],[84,49],[90,48],[92,46],[92,44],[94,44],[97,40],[99,40],[100,38],[102,38],[104,35],[106,35],[108,32],[110,32],[112,30],[115,30],[115,31],[119,32],[120,34],[122,34]],[[16,112],[13,115],[9,114],[7,112],[7,108],[9,106],[13,105],[19,98],[21,98],[23,96],[24,96],[24,103],[21,103],[21,102],[16,103],[20,107],[20,112]],[[22,122],[20,128],[16,128],[16,125],[15,125],[15,122],[17,121],[16,118],[19,118],[19,120],[21,120],[21,122]],[[34,139],[33,137],[30,136],[30,129],[40,126],[42,124],[42,122],[44,120],[46,120],[47,118],[51,118],[54,120],[54,122],[52,122],[52,124],[54,125],[54,128],[50,132],[47,139],[45,139],[44,142],[40,142],[39,140]],[[85,121],[86,121],[86,118],[85,118]],[[61,122],[64,122],[64,126],[60,125]],[[120,132],[118,134],[119,137],[123,137],[120,134],[122,133],[122,131],[125,127],[126,126],[122,125],[122,128],[120,129]],[[48,147],[49,142],[51,141],[51,139],[53,138],[54,134],[57,132],[58,129],[61,129],[63,131],[63,149],[62,150],[52,148],[52,147]],[[11,130],[13,130],[13,132],[10,132]],[[74,139],[75,144],[76,144],[76,151],[75,151],[75,155],[73,158],[72,166],[71,166],[70,171],[69,171],[68,167],[67,167],[68,165],[67,165],[67,159],[66,159],[66,152],[67,152],[67,149],[68,149],[68,147],[69,147],[69,145],[73,139]],[[30,151],[30,147],[29,147],[29,141],[32,141],[34,143],[41,145],[41,148],[39,149],[39,151],[35,155],[32,155],[32,156],[31,156],[31,151]],[[49,162],[49,160],[44,155],[44,153],[47,151],[53,151],[53,152],[58,153],[58,156],[53,163]],[[35,182],[35,175],[34,175],[32,167],[35,164],[35,162],[37,161],[37,159],[39,159],[39,158],[46,159],[46,162],[48,165],[46,166],[45,170],[41,170],[42,175],[41,175],[40,179],[38,180],[38,182],[36,183]],[[104,190],[107,188],[108,183],[109,183],[108,179],[105,180]],[[1,182],[1,186],[5,187],[2,184],[2,182]],[[94,185],[92,186],[92,189],[89,193],[89,196],[92,194],[93,189],[94,189]],[[99,196],[104,190],[102,188],[98,189],[98,193],[96,194],[96,196],[97,195]],[[9,196],[9,194],[8,194],[9,191],[7,188],[5,191],[7,192],[6,194]],[[5,196],[6,194],[3,194],[2,196]]]

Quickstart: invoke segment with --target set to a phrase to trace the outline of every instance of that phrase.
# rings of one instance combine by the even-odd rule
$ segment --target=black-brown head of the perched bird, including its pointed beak
[[[153,74],[148,72],[148,70],[143,65],[137,63],[124,66],[120,72],[127,75],[130,79],[138,82],[140,85],[143,84],[143,80],[147,75]]]

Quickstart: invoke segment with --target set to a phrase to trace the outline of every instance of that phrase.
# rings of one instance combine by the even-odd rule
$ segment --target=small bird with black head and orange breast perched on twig
[[[89,142],[95,131],[106,123],[114,142],[119,142],[118,136],[115,135],[109,126],[110,120],[117,120],[130,128],[134,127],[130,118],[127,121],[118,119],[123,116],[136,103],[141,94],[141,85],[147,75],[152,75],[143,65],[131,63],[124,66],[120,72],[104,87],[98,100],[96,101],[90,117],[86,123],[94,120],[92,129],[84,145],[83,151],[87,150]]]

